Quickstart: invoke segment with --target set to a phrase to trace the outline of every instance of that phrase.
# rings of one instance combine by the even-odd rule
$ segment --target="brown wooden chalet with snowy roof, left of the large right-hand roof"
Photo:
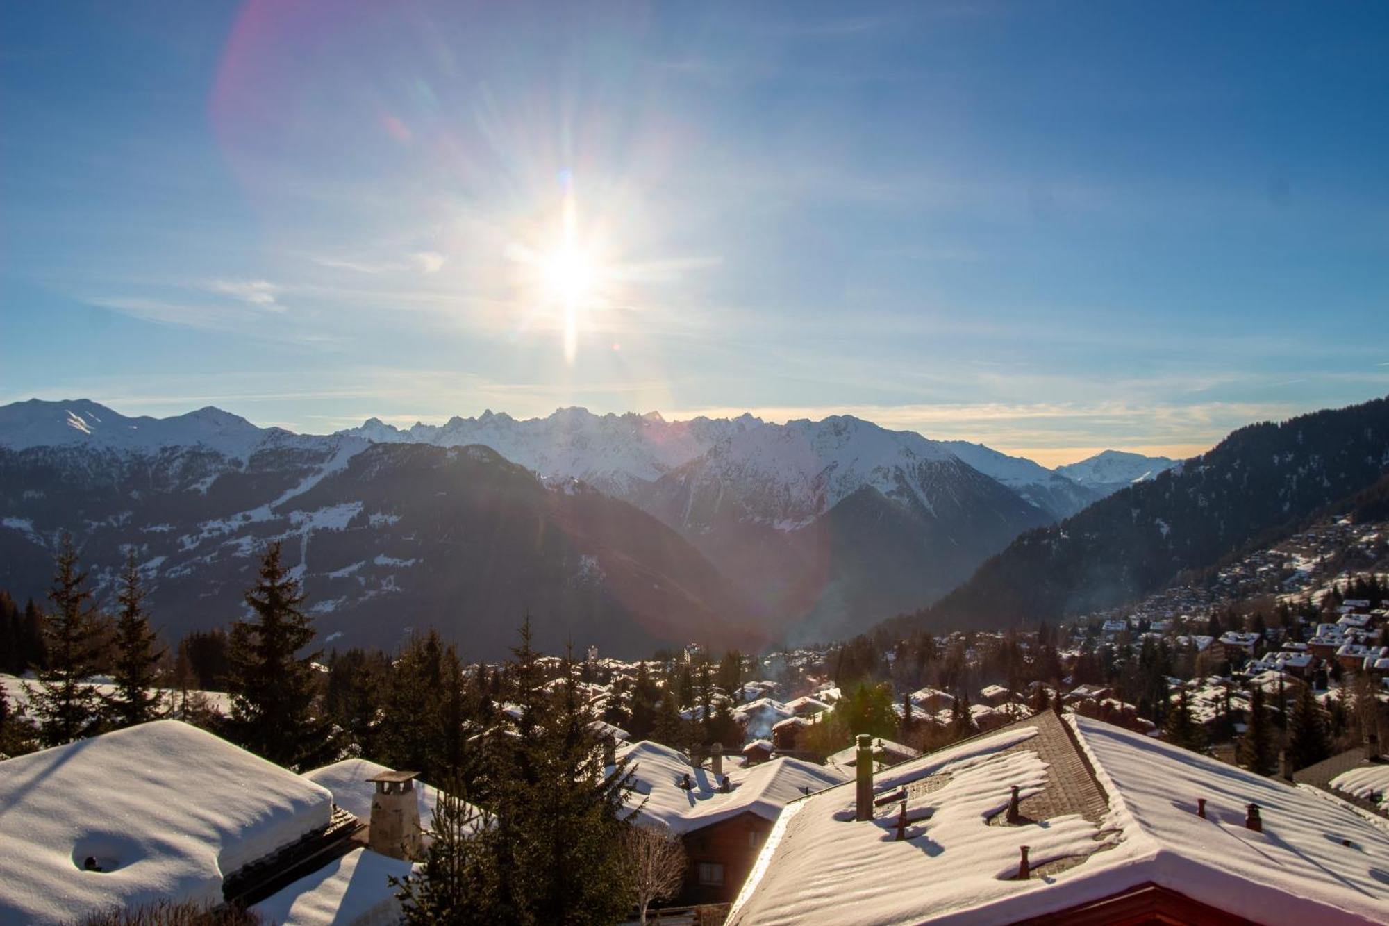
[[[665,827],[685,843],[689,868],[678,904],[731,901],[786,802],[849,777],[790,758],[725,769],[715,754],[707,765],[693,765],[683,752],[649,740],[617,758],[626,759],[635,779],[629,802],[639,808],[636,822]]]

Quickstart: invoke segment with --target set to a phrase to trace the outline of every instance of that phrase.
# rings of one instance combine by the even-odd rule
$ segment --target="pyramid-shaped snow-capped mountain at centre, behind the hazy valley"
[[[633,501],[681,531],[792,640],[932,601],[1051,517],[945,445],[847,416],[758,423]]]

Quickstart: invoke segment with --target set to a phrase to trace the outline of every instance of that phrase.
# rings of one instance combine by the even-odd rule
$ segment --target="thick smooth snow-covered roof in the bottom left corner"
[[[326,788],[178,720],[8,759],[0,922],[221,902],[224,876],[331,819]],[[88,856],[103,870],[83,870]]]

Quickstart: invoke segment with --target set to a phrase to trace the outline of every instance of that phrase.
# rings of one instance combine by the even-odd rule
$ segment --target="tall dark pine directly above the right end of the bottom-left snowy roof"
[[[261,558],[256,585],[246,592],[253,620],[232,624],[231,738],[257,755],[303,770],[331,758],[328,722],[315,695],[319,653],[299,656],[314,640],[300,610],[304,595],[279,560],[279,544]]]

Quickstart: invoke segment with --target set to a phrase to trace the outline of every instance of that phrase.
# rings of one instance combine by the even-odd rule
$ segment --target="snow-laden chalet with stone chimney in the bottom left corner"
[[[422,790],[371,763],[321,772],[350,780],[342,804],[178,720],[0,762],[0,923],[165,900],[235,901],[292,926],[399,916],[388,879],[410,872],[394,856],[419,838]]]

